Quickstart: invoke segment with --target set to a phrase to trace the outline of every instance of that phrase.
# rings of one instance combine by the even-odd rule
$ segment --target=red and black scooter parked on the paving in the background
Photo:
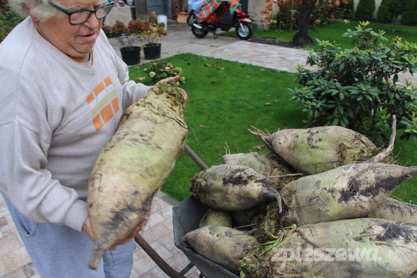
[[[190,10],[187,17],[187,23],[191,27],[192,34],[201,39],[207,34],[213,33],[217,38],[216,31],[222,30],[228,32],[231,28],[236,28],[236,35],[241,40],[249,40],[254,33],[252,21],[243,10],[236,9],[231,16],[230,13],[223,13],[222,7],[219,7],[205,21],[198,22],[194,14],[195,11]]]

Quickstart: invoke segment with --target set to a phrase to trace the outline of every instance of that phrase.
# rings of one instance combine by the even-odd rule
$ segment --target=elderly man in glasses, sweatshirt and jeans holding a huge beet
[[[89,269],[87,181],[123,110],[150,87],[129,80],[101,31],[113,3],[9,2],[29,15],[0,44],[0,190],[18,232],[41,277],[130,277],[144,222]]]

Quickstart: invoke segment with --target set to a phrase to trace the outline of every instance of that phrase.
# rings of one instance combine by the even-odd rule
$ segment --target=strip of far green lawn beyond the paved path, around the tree
[[[335,42],[340,45],[342,48],[350,48],[352,44],[348,37],[343,37],[343,34],[346,33],[347,29],[356,30],[356,27],[359,25],[358,21],[351,21],[349,24],[344,23],[335,23],[331,25],[321,25],[318,28],[310,27],[309,34],[315,40],[316,38],[323,41]],[[392,30],[392,24],[381,24],[381,23],[371,23],[368,28],[372,28],[375,32],[378,30]],[[396,31],[403,32],[399,35],[404,41],[417,43],[417,27],[416,26],[404,26],[397,25]],[[261,30],[256,28],[254,32],[254,37],[268,37],[268,38],[277,38],[278,41],[291,41],[296,31],[279,31],[279,30]],[[235,30],[222,33],[219,36],[227,37],[236,37]],[[395,35],[385,34],[384,35],[388,42],[395,38]],[[385,41],[385,43],[387,43]],[[317,45],[306,47],[305,49],[315,49]]]

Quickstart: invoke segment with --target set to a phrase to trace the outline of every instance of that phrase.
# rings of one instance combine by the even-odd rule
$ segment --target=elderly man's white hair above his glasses
[[[52,3],[59,5],[57,0],[50,0]],[[64,13],[48,4],[48,0],[9,0],[9,5],[21,16],[30,15],[36,17],[40,21],[46,21],[53,17],[65,16]],[[107,3],[107,0],[100,0],[101,4]],[[63,7],[69,9],[70,7]]]

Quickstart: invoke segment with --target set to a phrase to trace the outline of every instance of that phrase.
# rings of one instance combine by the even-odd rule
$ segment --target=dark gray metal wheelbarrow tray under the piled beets
[[[182,241],[186,233],[198,229],[200,219],[208,209],[209,206],[204,205],[194,196],[186,198],[172,208],[175,246],[198,268],[204,278],[239,278],[219,264],[198,255]]]

